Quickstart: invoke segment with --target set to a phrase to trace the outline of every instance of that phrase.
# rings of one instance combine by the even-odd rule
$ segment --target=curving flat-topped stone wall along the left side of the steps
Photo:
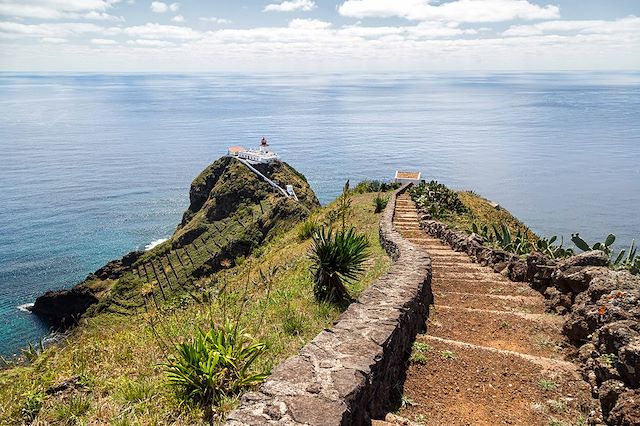
[[[402,390],[406,362],[424,327],[431,260],[393,230],[400,188],[380,221],[380,242],[395,263],[331,329],[276,367],[242,397],[227,425],[362,425],[381,418]]]

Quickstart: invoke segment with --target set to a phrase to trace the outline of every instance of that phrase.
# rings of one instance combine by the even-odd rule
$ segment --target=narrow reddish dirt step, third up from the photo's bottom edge
[[[503,296],[495,294],[473,294],[453,291],[434,291],[434,304],[438,306],[456,306],[460,308],[484,309],[507,312],[542,314],[546,307],[535,296]]]

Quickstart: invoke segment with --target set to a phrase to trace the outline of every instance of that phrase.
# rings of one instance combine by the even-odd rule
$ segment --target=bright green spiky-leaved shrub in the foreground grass
[[[207,332],[198,330],[192,341],[177,344],[164,366],[181,404],[207,407],[263,381],[267,373],[253,373],[251,365],[265,351],[264,343],[227,321],[221,327],[212,324]]]

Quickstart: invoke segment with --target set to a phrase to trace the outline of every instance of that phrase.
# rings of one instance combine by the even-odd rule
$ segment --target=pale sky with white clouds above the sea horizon
[[[0,0],[0,71],[640,70],[640,0]]]

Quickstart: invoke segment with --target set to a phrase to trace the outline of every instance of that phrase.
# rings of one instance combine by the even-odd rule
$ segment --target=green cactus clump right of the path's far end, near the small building
[[[426,209],[434,218],[469,211],[455,191],[436,181],[414,186],[409,190],[409,194],[419,207]]]

